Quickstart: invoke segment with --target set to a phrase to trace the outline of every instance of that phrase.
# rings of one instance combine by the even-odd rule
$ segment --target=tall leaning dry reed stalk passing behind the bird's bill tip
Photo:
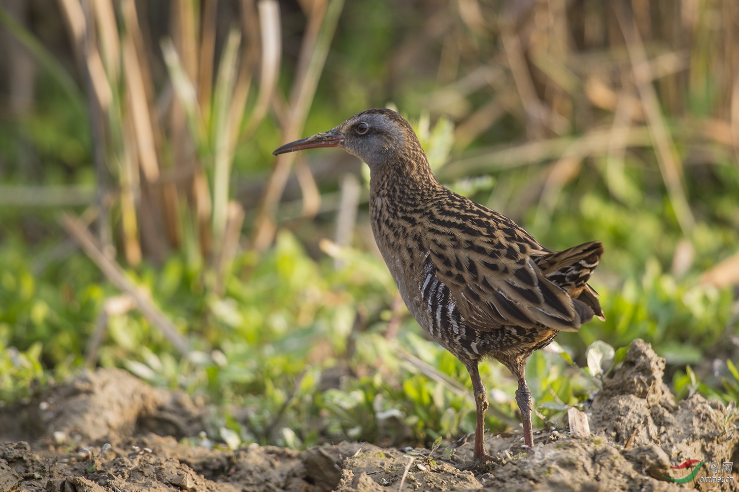
[[[327,4],[322,5],[323,4]],[[282,129],[282,141],[287,143],[299,138],[305,124],[313,95],[316,93],[319,76],[323,71],[326,56],[336,31],[336,24],[344,0],[316,0],[308,20],[308,27],[303,38],[300,61],[296,81],[290,92],[290,110],[287,122]],[[282,192],[285,190],[290,167],[295,156],[293,154],[280,155],[272,174],[270,175],[262,203],[254,226],[252,247],[256,251],[266,249],[276,232],[276,211]]]

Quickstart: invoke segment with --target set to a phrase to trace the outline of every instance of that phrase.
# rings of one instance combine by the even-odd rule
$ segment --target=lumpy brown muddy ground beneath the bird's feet
[[[664,360],[636,340],[586,408],[593,434],[543,431],[530,453],[520,433],[488,435],[498,459],[484,470],[463,469],[472,442],[447,461],[416,450],[403,491],[739,490],[737,415],[699,394],[675,403],[663,370]],[[205,407],[183,393],[124,371],[84,374],[29,405],[0,410],[0,491],[389,492],[398,491],[413,454],[358,442],[303,452],[180,444],[203,430],[204,419]],[[692,482],[668,481],[689,474],[671,468],[689,459],[732,462],[733,473],[712,474],[706,464]]]

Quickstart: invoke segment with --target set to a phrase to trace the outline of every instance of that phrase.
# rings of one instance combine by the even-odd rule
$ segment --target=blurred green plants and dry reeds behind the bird
[[[528,363],[536,426],[636,337],[678,397],[739,397],[735,0],[0,7],[0,405],[100,365],[205,397],[231,447],[474,431],[378,255],[366,166],[270,154],[378,106],[548,248],[605,243],[607,321]],[[515,380],[481,372],[488,427],[517,427]]]

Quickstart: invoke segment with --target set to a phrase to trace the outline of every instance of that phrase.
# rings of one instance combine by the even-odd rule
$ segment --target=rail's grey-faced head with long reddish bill
[[[316,147],[343,147],[373,169],[404,149],[420,149],[420,144],[401,115],[392,109],[375,108],[362,111],[327,132],[285,144],[272,153],[279,155]]]

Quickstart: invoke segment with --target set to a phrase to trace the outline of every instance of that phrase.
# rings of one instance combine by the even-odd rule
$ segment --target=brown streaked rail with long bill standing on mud
[[[487,454],[488,399],[479,363],[492,357],[516,377],[524,445],[534,445],[525,364],[559,331],[605,320],[588,285],[599,241],[552,252],[513,220],[457,195],[435,178],[412,127],[392,109],[359,112],[273,154],[341,147],[369,166],[369,216],[378,248],[418,324],[463,363],[477,408],[474,460]]]

